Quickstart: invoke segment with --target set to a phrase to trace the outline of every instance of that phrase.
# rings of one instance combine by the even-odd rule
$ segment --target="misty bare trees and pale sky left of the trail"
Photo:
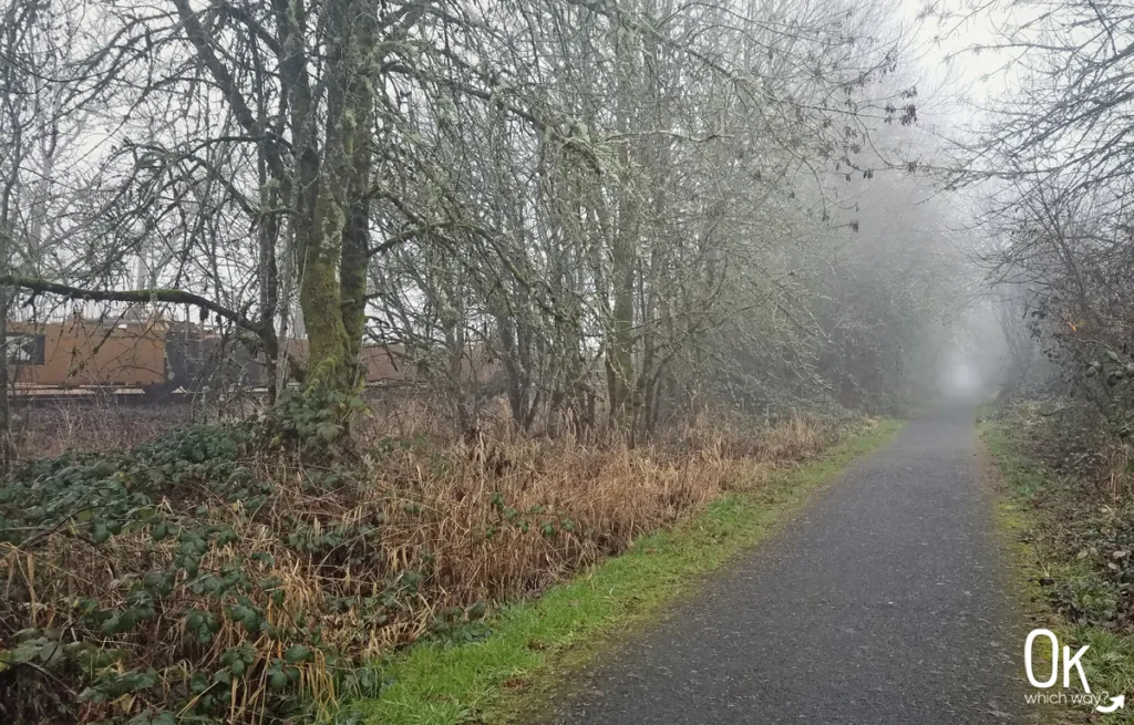
[[[466,432],[898,404],[972,270],[897,10],[8,0],[5,317],[206,323],[340,432],[374,347]]]

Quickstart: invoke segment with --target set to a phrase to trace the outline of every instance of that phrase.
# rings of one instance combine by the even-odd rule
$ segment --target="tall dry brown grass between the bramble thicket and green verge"
[[[501,435],[455,444],[440,455],[435,449],[396,450],[367,459],[362,505],[381,511],[381,545],[392,569],[431,570],[425,598],[432,608],[499,603],[621,552],[742,480],[754,485],[814,455],[843,433],[806,415],[753,432],[709,420],[634,449],[619,441],[583,445]],[[380,429],[369,435],[383,440]],[[545,536],[549,526],[555,534]],[[430,613],[420,614],[426,616],[387,632],[384,643],[423,633]]]

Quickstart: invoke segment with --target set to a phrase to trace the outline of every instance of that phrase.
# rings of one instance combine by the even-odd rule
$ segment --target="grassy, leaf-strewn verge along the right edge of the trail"
[[[1022,598],[1034,626],[1052,630],[1060,645],[1073,650],[1090,647],[1082,663],[1093,694],[1129,698],[1134,696],[1134,638],[1118,623],[1128,594],[1114,569],[1115,552],[1124,549],[1101,540],[1112,539],[1111,527],[1118,528],[1106,520],[1114,518],[1112,510],[1100,508],[1083,481],[1057,476],[1027,455],[1019,411],[995,412],[996,417],[981,421],[980,433],[999,470],[999,519],[1010,535],[1014,563],[1023,570]],[[1048,666],[1036,665],[1040,677],[1049,672]],[[1134,723],[1131,703],[1112,715],[1072,705],[1052,705],[1043,714],[1055,723]]]

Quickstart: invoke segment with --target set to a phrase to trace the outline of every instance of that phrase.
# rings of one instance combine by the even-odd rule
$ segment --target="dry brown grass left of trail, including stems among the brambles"
[[[57,686],[61,711],[91,722],[175,702],[185,711],[201,697],[188,688],[192,673],[212,676],[226,650],[251,647],[248,675],[223,692],[222,719],[253,722],[271,710],[269,664],[293,645],[312,643],[318,625],[321,646],[345,660],[325,662],[324,650],[313,648],[314,658],[298,664],[299,688],[327,706],[341,694],[331,676],[336,667],[474,619],[484,606],[538,594],[701,510],[722,491],[758,485],[769,471],[815,454],[845,430],[805,415],[747,430],[704,416],[637,447],[619,440],[530,438],[502,424],[486,425],[473,443],[443,443],[426,413],[404,409],[396,419],[375,417],[359,427],[361,454],[349,470],[304,467],[279,451],[246,460],[270,481],[256,510],[210,481],[151,493],[172,530],[208,524],[231,528],[235,537],[209,538],[200,573],[179,571],[154,616],[128,633],[99,634],[76,614],[76,602],[90,597],[107,609],[128,608],[146,573],[178,571],[177,536],[155,540],[152,526],[126,527],[96,545],[68,520],[34,545],[0,545],[8,620],[0,649],[18,630],[50,629],[121,648],[128,654],[113,665],[121,671],[159,672],[158,688],[78,709],[76,693]],[[269,629],[249,633],[230,615],[232,597],[195,586],[204,574],[235,569],[248,582],[239,595],[261,608]],[[191,609],[212,612],[221,623],[206,643],[186,628]],[[5,676],[0,692],[15,697],[24,685],[11,671]]]

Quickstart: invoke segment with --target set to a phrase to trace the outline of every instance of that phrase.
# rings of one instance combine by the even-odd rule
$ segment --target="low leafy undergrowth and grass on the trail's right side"
[[[1082,662],[1092,692],[1134,694],[1134,503],[1112,464],[1125,459],[1088,447],[1094,438],[1086,430],[1068,435],[1046,406],[1017,402],[990,413],[982,437],[1021,512],[1034,590],[1055,616],[1049,629],[1073,650],[1090,647]],[[1082,715],[1134,722],[1128,710]]]

